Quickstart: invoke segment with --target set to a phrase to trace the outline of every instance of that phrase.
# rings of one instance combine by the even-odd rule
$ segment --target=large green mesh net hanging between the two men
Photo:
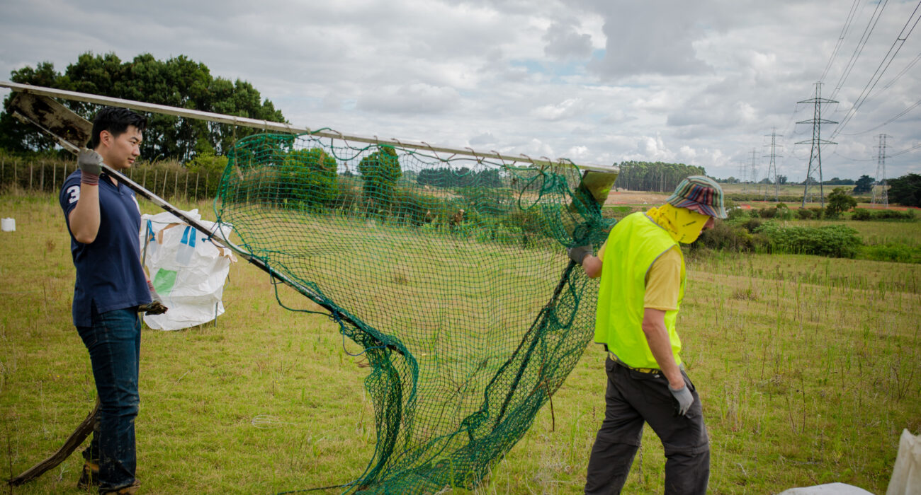
[[[233,149],[216,213],[367,354],[377,444],[358,493],[474,488],[592,335],[612,174],[310,134]],[[585,183],[580,186],[581,179]]]

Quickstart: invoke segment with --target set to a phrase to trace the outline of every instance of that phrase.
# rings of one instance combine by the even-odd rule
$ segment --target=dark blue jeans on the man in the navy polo
[[[89,351],[99,395],[99,416],[84,457],[99,459],[99,491],[134,483],[137,465],[134,418],[137,417],[138,362],[141,319],[137,308],[98,313],[91,310],[92,326],[77,327]]]

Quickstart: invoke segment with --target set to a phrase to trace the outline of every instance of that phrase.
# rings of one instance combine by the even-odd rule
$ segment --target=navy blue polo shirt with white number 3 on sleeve
[[[74,325],[89,327],[90,307],[105,313],[150,302],[146,276],[141,267],[141,212],[134,191],[99,177],[99,234],[90,244],[77,242],[70,232],[70,212],[80,199],[80,170],[64,180],[61,208],[70,233],[70,252],[76,267]]]

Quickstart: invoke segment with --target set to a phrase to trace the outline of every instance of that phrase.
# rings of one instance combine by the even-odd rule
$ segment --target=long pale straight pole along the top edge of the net
[[[569,160],[568,158],[557,158],[551,160],[545,156],[541,158],[530,158],[527,155],[502,155],[496,152],[482,153],[472,150],[471,148],[448,148],[443,146],[432,146],[425,142],[413,143],[407,141],[401,141],[399,139],[379,139],[378,136],[374,137],[364,137],[364,136],[355,136],[343,134],[341,132],[334,131],[311,131],[309,127],[297,127],[288,123],[283,122],[272,122],[272,121],[260,121],[258,119],[249,119],[246,117],[235,117],[232,115],[225,115],[221,113],[213,113],[210,111],[200,111],[192,109],[181,109],[178,107],[169,107],[167,105],[157,105],[155,103],[144,103],[141,101],[134,101],[131,99],[122,99],[122,98],[109,98],[101,97],[99,95],[90,95],[87,93],[78,93],[76,91],[64,91],[63,89],[54,89],[51,87],[42,87],[42,86],[31,86],[23,85],[18,83],[11,83],[8,81],[0,81],[0,87],[8,87],[14,91],[22,91],[25,93],[32,93],[36,95],[42,95],[52,98],[64,98],[76,101],[86,101],[87,103],[96,103],[99,105],[111,105],[114,107],[123,107],[126,109],[135,109],[141,111],[149,111],[155,113],[164,113],[167,115],[174,115],[177,117],[185,117],[189,119],[198,119],[201,121],[212,121],[220,122],[232,125],[239,125],[243,127],[250,127],[253,129],[261,129],[262,131],[273,131],[273,132],[287,132],[292,134],[299,134],[308,132],[311,135],[326,137],[331,139],[342,139],[345,141],[354,141],[358,143],[367,143],[367,144],[387,144],[391,146],[398,146],[401,148],[413,148],[417,150],[426,150],[433,153],[448,153],[450,155],[467,155],[473,156],[475,158],[494,158],[504,162],[518,162],[518,163],[530,163],[535,166],[573,166],[579,167],[583,170],[595,170],[599,172],[616,172],[618,167],[615,166],[605,166],[605,165],[576,165]]]

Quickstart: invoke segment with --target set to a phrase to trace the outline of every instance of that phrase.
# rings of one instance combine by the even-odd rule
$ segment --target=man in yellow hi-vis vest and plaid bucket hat
[[[700,397],[684,372],[675,317],[684,297],[679,243],[726,218],[711,178],[682,180],[668,201],[632,213],[611,230],[597,256],[569,248],[591,278],[601,277],[595,341],[604,345],[605,414],[589,458],[585,492],[620,493],[647,422],[665,448],[665,493],[703,494],[710,443]]]

